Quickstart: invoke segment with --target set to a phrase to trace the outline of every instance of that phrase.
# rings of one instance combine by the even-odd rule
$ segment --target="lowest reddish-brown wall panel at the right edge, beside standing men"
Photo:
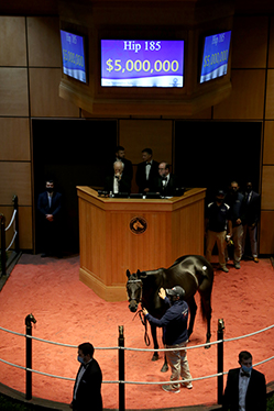
[[[261,212],[260,254],[274,254],[274,211]]]

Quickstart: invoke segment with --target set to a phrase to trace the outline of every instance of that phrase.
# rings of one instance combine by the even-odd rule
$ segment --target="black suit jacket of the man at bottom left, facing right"
[[[77,376],[81,367],[83,365],[79,367]],[[76,381],[74,386],[74,392],[76,388]],[[101,382],[102,374],[100,366],[97,363],[97,360],[92,358],[92,360],[88,364],[87,369],[84,373],[81,380],[79,382],[76,392],[76,400],[73,400],[75,411],[102,410]]]

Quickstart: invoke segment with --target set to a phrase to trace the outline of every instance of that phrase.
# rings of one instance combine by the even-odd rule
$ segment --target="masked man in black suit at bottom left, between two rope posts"
[[[102,411],[102,373],[94,358],[95,348],[90,343],[78,346],[78,362],[81,364],[74,385],[70,408],[74,411]]]

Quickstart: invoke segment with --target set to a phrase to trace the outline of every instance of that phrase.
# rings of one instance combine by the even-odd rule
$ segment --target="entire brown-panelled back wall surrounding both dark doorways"
[[[0,212],[9,220],[12,196],[17,193],[20,247],[33,248],[31,118],[77,118],[79,109],[58,97],[58,18],[0,16]],[[234,18],[231,79],[231,96],[195,119],[263,123],[260,253],[273,254],[274,18]],[[158,115],[118,120],[120,144],[134,164],[147,145],[155,158],[173,160],[175,119]]]

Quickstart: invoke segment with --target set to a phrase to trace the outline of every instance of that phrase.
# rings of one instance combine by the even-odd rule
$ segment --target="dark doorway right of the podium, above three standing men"
[[[212,201],[231,181],[260,187],[261,122],[175,122],[175,174],[185,187],[206,187]]]

